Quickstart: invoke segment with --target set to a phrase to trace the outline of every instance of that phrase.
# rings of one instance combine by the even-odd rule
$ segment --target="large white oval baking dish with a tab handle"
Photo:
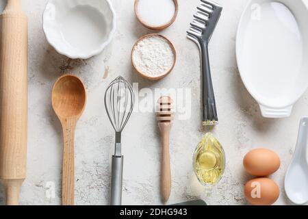
[[[238,26],[242,81],[268,118],[290,116],[308,87],[308,9],[302,0],[251,0]]]

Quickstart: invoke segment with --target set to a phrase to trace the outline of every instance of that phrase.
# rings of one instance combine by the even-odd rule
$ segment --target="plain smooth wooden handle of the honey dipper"
[[[161,193],[164,203],[169,199],[171,192],[171,170],[169,152],[169,132],[162,133],[162,166],[161,166]]]

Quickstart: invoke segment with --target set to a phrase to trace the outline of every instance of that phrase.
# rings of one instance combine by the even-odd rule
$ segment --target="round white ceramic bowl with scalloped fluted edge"
[[[101,53],[116,29],[109,0],[49,0],[42,20],[51,46],[73,59]]]

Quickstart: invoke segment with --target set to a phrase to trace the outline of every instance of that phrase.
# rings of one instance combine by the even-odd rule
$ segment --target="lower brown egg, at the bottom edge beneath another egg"
[[[256,178],[245,185],[245,198],[251,205],[272,205],[279,198],[279,187],[268,178]]]

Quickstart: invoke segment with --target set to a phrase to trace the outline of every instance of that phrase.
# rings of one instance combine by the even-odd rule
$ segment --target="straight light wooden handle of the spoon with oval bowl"
[[[75,138],[76,120],[66,119],[63,128],[62,205],[74,205],[75,194]]]

